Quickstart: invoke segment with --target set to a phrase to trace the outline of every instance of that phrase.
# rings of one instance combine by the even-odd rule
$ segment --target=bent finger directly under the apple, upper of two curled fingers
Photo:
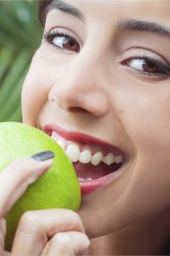
[[[40,255],[56,233],[71,230],[84,233],[82,221],[76,212],[63,209],[26,212],[20,219],[12,253]]]

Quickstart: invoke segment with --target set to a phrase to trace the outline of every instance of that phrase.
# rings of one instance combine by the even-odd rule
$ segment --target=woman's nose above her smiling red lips
[[[65,71],[55,76],[49,100],[70,112],[88,112],[96,116],[108,112],[106,68],[101,60],[79,54],[61,69]]]

